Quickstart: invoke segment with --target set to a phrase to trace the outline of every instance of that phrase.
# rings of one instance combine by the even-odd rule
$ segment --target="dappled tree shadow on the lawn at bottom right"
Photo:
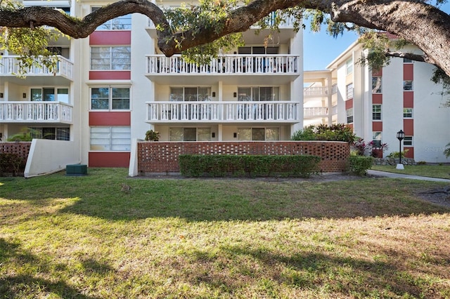
[[[288,256],[243,246],[229,246],[221,247],[220,256],[211,257],[203,251],[191,252],[190,255],[191,258],[193,255],[193,263],[198,265],[198,269],[194,273],[190,272],[189,277],[184,279],[191,284],[202,282],[211,288],[238,289],[244,287],[243,284],[248,283],[248,279],[256,277],[261,288],[271,291],[276,291],[277,286],[287,285],[314,293],[325,291],[338,297],[338,294],[342,294],[342,297],[352,294],[352,297],[357,298],[391,298],[392,295],[399,298],[431,298],[429,296],[434,297],[439,289],[432,282],[428,284],[420,279],[420,273],[405,274],[402,271],[404,265],[340,257],[333,253],[327,255],[308,252]],[[231,262],[226,265],[227,270],[231,270],[240,279],[230,279],[232,274],[227,276],[226,273],[209,271],[217,267],[218,260],[240,260],[236,256],[243,257],[243,260],[250,256],[258,260],[262,267],[252,267],[251,263],[245,265]],[[418,281],[421,281],[420,284]],[[442,288],[440,291],[449,293],[450,290]]]

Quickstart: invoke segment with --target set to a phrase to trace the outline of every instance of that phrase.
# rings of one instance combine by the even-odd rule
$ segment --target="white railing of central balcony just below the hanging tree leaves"
[[[223,55],[209,65],[185,62],[180,55],[147,56],[148,74],[300,74],[297,55]]]

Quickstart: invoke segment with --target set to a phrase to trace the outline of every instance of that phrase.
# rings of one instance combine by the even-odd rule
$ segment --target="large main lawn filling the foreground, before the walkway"
[[[449,298],[444,185],[0,178],[0,298]]]

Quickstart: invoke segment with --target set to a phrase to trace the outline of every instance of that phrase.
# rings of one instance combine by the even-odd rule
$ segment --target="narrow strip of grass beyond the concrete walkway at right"
[[[371,169],[375,171],[388,171],[390,173],[405,173],[429,176],[431,178],[450,179],[450,165],[405,165],[402,170],[396,169],[395,165],[376,165]]]

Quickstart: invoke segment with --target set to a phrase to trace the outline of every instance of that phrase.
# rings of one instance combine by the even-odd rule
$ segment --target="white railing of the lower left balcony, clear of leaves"
[[[0,102],[0,122],[72,122],[72,106],[63,102]]]

